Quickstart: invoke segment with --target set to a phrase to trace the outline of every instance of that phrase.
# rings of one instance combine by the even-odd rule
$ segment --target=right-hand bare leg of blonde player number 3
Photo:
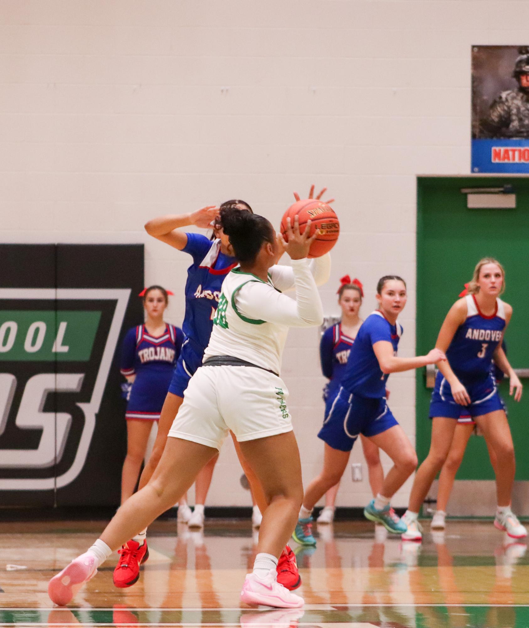
[[[496,410],[476,416],[476,423],[491,449],[496,453],[498,474],[496,475],[496,495],[498,506],[509,506],[515,481],[516,461],[513,438],[505,411]]]

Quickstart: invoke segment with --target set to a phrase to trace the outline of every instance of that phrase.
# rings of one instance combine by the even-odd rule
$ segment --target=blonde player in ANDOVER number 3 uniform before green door
[[[491,257],[481,259],[469,284],[469,294],[452,305],[437,337],[437,349],[446,351],[446,362],[439,364],[430,403],[432,442],[430,452],[415,475],[408,510],[403,519],[408,529],[403,540],[420,541],[417,522],[422,502],[444,464],[456,430],[461,409],[466,409],[496,454],[498,509],[494,526],[511,536],[523,538],[526,529],[511,511],[511,492],[515,479],[513,439],[491,373],[491,360],[510,380],[510,394],[520,401],[521,382],[501,348],[505,328],[513,308],[500,299],[505,290],[503,266]]]

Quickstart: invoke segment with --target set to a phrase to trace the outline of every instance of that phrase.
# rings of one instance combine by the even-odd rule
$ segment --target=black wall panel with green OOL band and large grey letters
[[[0,501],[119,504],[143,246],[0,244],[0,264]]]

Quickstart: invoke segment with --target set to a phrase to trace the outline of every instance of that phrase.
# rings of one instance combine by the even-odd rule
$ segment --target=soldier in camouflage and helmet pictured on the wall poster
[[[494,100],[489,115],[481,122],[484,136],[529,138],[529,46],[518,48],[513,77],[518,89],[510,89]]]

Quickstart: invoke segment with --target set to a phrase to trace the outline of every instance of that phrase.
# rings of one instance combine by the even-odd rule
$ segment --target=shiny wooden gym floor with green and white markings
[[[424,528],[422,544],[386,537],[369,522],[320,526],[318,547],[294,541],[302,610],[252,609],[239,601],[255,555],[247,521],[176,521],[149,529],[150,558],[131,588],[112,585],[117,555],[67,609],[48,580],[85,551],[104,522],[0,524],[0,626],[321,626],[324,628],[528,628],[526,544],[492,522]],[[9,565],[9,567],[7,567]]]

